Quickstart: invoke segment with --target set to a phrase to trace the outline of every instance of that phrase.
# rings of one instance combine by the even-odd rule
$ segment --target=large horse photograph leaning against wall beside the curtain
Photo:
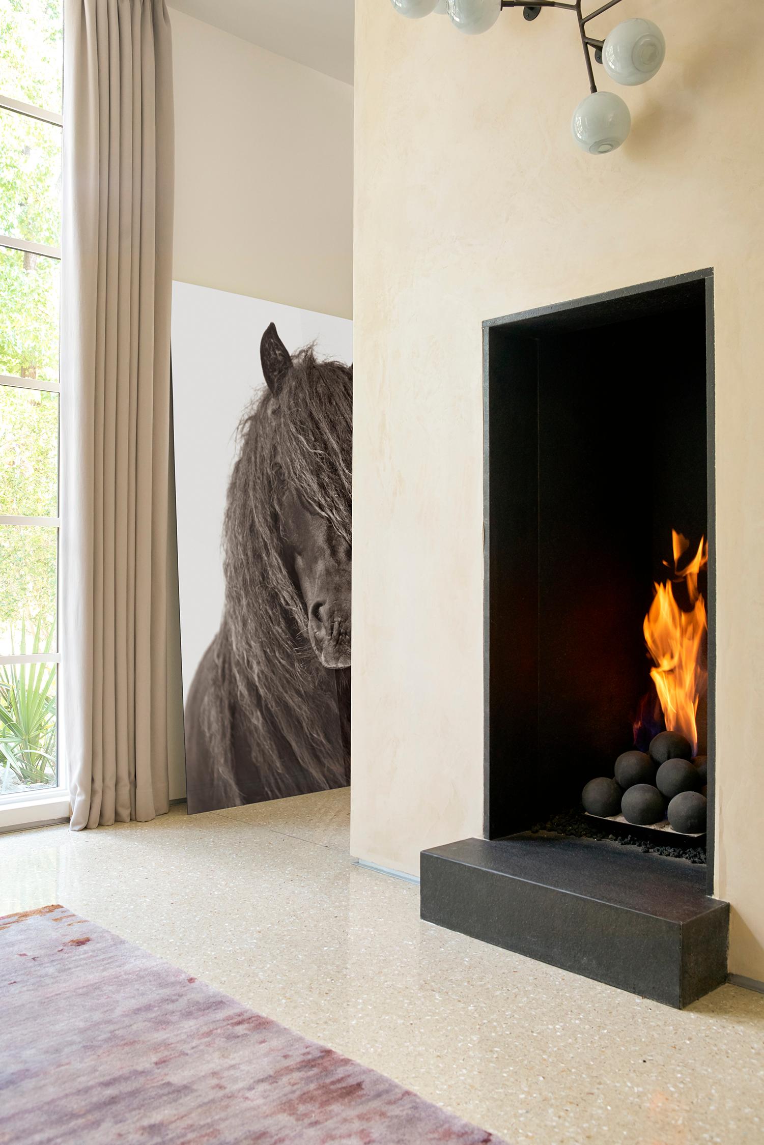
[[[173,286],[189,813],[349,783],[352,323]]]

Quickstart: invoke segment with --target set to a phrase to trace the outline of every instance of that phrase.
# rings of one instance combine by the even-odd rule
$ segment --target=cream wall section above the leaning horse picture
[[[173,277],[353,315],[353,88],[171,9]]]

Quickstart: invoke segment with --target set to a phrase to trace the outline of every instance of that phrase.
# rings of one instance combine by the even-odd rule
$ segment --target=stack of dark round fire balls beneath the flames
[[[624,751],[615,760],[615,779],[590,780],[581,793],[584,811],[607,818],[621,813],[629,823],[649,827],[667,819],[680,835],[706,830],[706,756],[692,759],[690,741],[661,732],[645,751]]]

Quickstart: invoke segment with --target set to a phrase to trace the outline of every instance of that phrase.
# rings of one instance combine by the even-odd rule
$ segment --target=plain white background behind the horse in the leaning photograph
[[[173,283],[173,411],[183,702],[223,606],[220,537],[236,427],[265,387],[260,339],[270,322],[290,354],[353,361],[353,323],[312,310]]]

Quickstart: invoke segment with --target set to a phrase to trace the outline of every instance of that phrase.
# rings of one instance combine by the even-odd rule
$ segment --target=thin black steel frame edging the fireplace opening
[[[690,274],[662,278],[655,282],[640,283],[616,291],[592,294],[572,301],[539,307],[504,317],[491,318],[482,324],[483,330],[483,834],[487,839],[498,838],[504,832],[497,828],[496,818],[491,815],[491,788],[501,785],[501,776],[493,774],[491,755],[491,714],[490,714],[490,629],[493,599],[491,585],[491,456],[490,456],[490,408],[491,386],[496,384],[493,377],[490,361],[491,331],[504,329],[518,332],[522,325],[528,326],[545,317],[565,315],[576,310],[588,311],[588,321],[596,321],[598,310],[612,313],[614,303],[627,303],[639,309],[639,300],[656,291],[671,290],[683,285],[699,284],[704,286],[706,300],[706,385],[707,385],[707,453],[708,453],[708,835],[707,835],[707,893],[714,894],[714,836],[716,808],[716,480],[715,480],[715,362],[714,362],[714,270],[706,268]],[[624,311],[627,307],[623,307]],[[611,319],[612,321],[612,319]],[[592,331],[596,339],[596,330]],[[593,347],[594,348],[594,347]],[[494,615],[496,615],[494,613]],[[529,826],[529,824],[528,824]]]

